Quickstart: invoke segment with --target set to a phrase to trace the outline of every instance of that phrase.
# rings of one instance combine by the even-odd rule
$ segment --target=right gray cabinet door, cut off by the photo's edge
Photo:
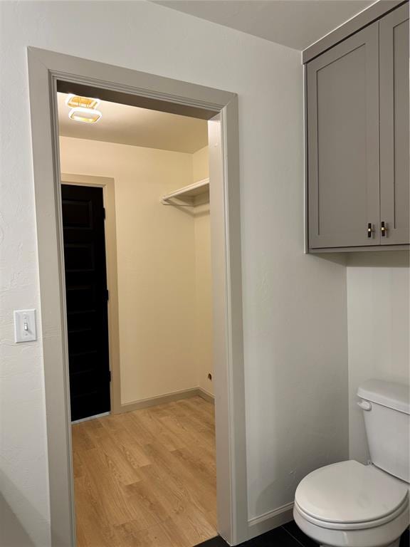
[[[382,245],[409,243],[409,4],[380,20]]]

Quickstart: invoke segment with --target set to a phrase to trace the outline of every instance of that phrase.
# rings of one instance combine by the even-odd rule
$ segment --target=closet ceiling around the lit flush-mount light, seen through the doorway
[[[59,130],[63,137],[103,140],[189,154],[208,144],[206,120],[102,100],[98,105],[102,118],[97,123],[85,124],[68,118],[70,107],[65,105],[67,95],[57,95]]]

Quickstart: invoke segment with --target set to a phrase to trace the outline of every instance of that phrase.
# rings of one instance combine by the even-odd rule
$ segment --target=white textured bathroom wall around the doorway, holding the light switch
[[[300,52],[144,1],[2,2],[1,455],[4,496],[49,545],[41,341],[14,345],[38,308],[26,46],[238,93],[249,515],[293,499],[347,456],[345,268],[303,254]],[[93,26],[89,21],[93,20]],[[41,325],[39,325],[41,336]]]

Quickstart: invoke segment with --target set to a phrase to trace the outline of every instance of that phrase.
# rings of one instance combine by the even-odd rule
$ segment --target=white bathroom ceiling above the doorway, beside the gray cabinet
[[[374,0],[152,1],[300,51],[374,4]]]

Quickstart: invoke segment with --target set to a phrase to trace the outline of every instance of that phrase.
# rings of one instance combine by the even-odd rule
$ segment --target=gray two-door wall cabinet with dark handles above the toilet
[[[309,249],[409,244],[409,4],[310,61],[306,93]]]

